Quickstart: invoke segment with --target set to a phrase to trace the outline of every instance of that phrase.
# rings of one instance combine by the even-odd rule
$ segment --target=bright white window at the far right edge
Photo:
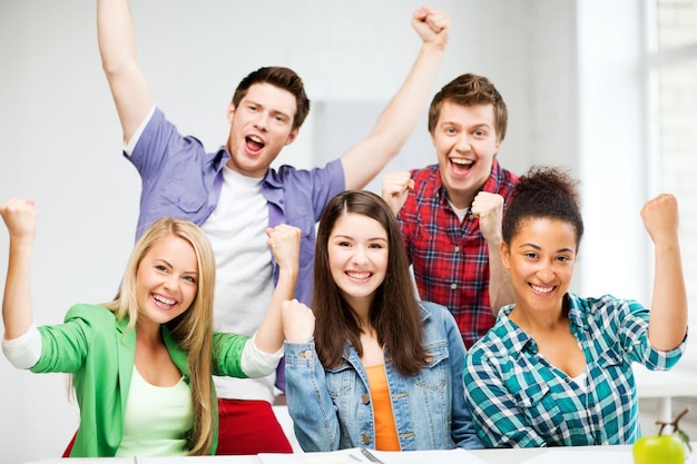
[[[680,247],[697,327],[697,0],[649,1],[654,190],[676,195]]]

